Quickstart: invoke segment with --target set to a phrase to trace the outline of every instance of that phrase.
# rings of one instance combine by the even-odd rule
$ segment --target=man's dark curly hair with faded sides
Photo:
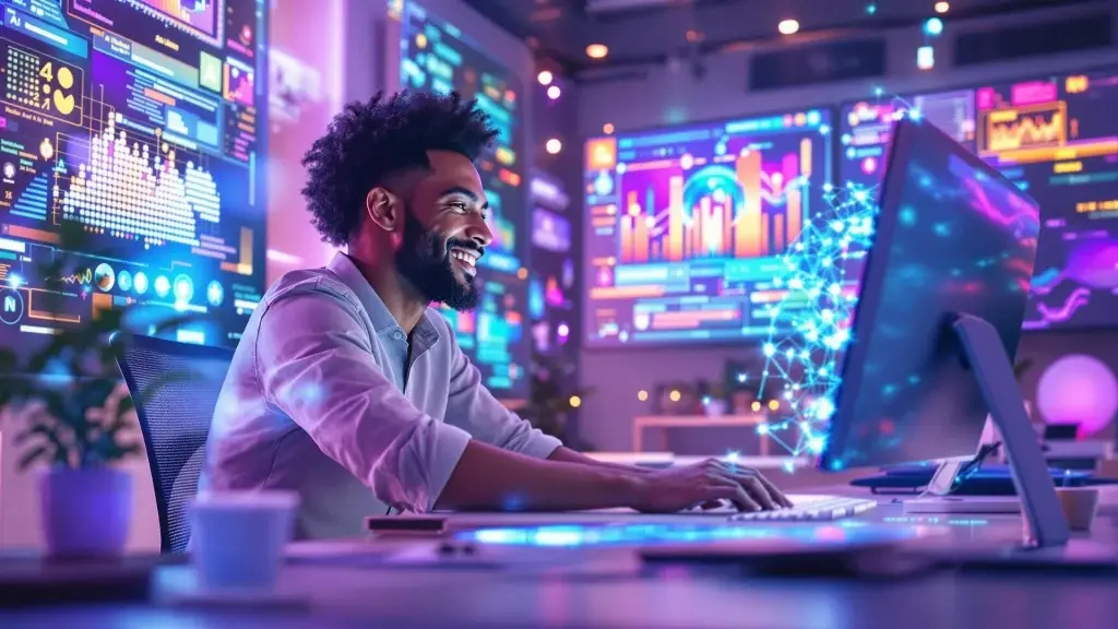
[[[357,228],[364,198],[387,175],[428,168],[427,151],[454,151],[471,161],[496,137],[475,101],[457,93],[378,93],[345,105],[303,157],[311,223],[332,245]]]

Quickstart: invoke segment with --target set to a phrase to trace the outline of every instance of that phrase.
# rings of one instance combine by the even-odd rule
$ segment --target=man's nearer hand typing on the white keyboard
[[[675,513],[712,500],[727,500],[742,511],[792,506],[760,472],[717,459],[644,473],[633,482],[628,506],[646,514]]]

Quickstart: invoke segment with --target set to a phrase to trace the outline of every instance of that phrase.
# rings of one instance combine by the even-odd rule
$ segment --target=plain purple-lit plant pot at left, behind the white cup
[[[132,475],[113,468],[51,468],[39,478],[39,526],[54,557],[124,553],[132,522]]]

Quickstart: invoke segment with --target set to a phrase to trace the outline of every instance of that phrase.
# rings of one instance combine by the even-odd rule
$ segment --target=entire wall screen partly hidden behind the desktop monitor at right
[[[845,105],[845,185],[877,194],[889,130],[912,110],[1039,201],[1043,227],[1024,328],[1118,323],[1118,72]]]

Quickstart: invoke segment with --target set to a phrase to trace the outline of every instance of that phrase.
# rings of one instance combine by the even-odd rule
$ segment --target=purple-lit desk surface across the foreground
[[[816,491],[859,490],[831,487]],[[514,526],[577,523],[586,517],[462,514],[452,516],[451,522],[455,527]],[[608,519],[693,523],[697,516],[609,515]],[[916,522],[906,518],[892,498],[885,498],[862,519],[883,526],[911,526]],[[934,524],[931,519],[923,522]],[[1020,538],[1021,519],[964,517],[947,531],[959,543],[1007,544]],[[1078,537],[1118,543],[1118,517],[1103,511],[1095,531]],[[486,558],[491,551],[483,547],[477,551],[480,556],[458,563],[437,556],[437,561],[423,560],[420,551],[414,554],[419,557],[415,561],[382,561],[400,550],[408,550],[405,555],[411,557],[413,548],[432,548],[436,544],[437,539],[399,538],[293,544],[292,555],[297,561],[284,567],[282,589],[304,597],[304,608],[55,607],[19,613],[0,611],[0,626],[1112,629],[1118,618],[1114,605],[1118,572],[1086,575],[947,570],[915,578],[866,580],[818,574],[778,579],[749,575],[735,567],[644,565],[632,548],[549,550],[552,554],[548,561],[533,561],[532,550],[517,550],[493,561]],[[167,572],[164,576],[172,574]]]

